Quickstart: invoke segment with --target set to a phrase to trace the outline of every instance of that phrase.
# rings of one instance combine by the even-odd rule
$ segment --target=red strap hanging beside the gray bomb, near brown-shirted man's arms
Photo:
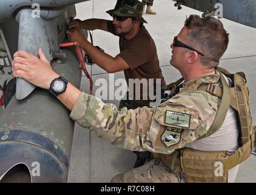
[[[91,35],[91,33],[90,33],[90,35]],[[93,41],[92,37],[91,37],[91,41]],[[90,80],[90,94],[93,94],[93,79],[91,79],[91,76],[89,75],[89,73],[87,71],[87,68],[85,66],[85,59],[84,59],[84,56],[83,56],[82,48],[80,46],[78,46],[77,42],[61,43],[60,44],[61,48],[66,48],[66,47],[69,47],[69,46],[76,46],[76,55],[79,59],[80,67],[84,71],[85,76],[87,76],[87,78]]]

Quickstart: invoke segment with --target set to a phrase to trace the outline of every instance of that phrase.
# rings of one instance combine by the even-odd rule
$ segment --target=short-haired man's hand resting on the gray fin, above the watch
[[[52,80],[59,75],[54,72],[41,49],[38,50],[38,56],[39,58],[26,51],[17,51],[13,55],[13,77],[22,78],[40,88],[49,89]]]

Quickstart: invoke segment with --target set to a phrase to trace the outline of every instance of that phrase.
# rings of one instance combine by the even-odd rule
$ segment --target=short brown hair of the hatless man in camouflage
[[[229,44],[229,34],[221,21],[213,16],[190,15],[185,26],[191,30],[188,39],[204,54],[204,57],[199,55],[202,65],[207,68],[218,66]]]

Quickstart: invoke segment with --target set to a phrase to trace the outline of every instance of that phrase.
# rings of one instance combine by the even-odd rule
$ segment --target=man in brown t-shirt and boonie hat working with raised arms
[[[165,80],[159,66],[154,40],[143,26],[143,23],[147,23],[142,17],[143,4],[138,0],[118,0],[115,9],[108,10],[107,13],[113,17],[113,21],[105,19],[87,19],[85,21],[75,19],[71,21],[68,26],[69,30],[67,30],[68,38],[71,41],[76,41],[90,55],[91,59],[107,73],[124,71],[127,85],[129,89],[133,88],[133,90],[130,90],[129,94],[127,93],[127,96],[120,102],[119,108],[149,107],[149,103],[154,101],[151,97],[155,97],[149,91],[156,92],[157,86],[165,85]],[[79,29],[101,29],[119,36],[120,53],[116,57],[105,54],[89,43],[80,34]],[[135,90],[136,80],[134,79],[137,79],[139,90]],[[152,79],[151,82],[150,79]],[[143,86],[144,90],[148,91],[147,94],[143,94],[143,87],[140,84],[144,81],[146,81],[147,90]],[[157,81],[160,81],[159,85],[157,85]],[[156,99],[160,99],[161,94],[155,95],[158,96]],[[141,158],[146,156],[142,155]],[[135,167],[142,165],[143,161],[144,159],[139,159]]]

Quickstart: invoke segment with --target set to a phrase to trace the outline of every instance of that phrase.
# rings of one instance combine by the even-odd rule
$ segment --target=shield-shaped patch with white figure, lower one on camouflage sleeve
[[[179,127],[165,127],[165,132],[163,132],[161,139],[167,147],[172,146],[179,143],[181,132],[182,129]]]

